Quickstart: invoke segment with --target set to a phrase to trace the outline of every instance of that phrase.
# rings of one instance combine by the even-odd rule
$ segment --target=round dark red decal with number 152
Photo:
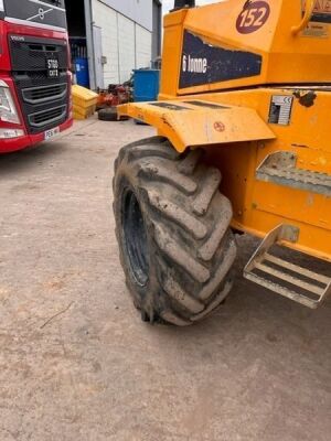
[[[246,2],[237,18],[237,31],[241,34],[250,34],[259,30],[270,15],[270,7],[266,1]]]

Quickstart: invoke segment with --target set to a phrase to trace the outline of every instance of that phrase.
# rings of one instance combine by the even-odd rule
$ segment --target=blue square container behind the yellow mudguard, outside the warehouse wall
[[[135,101],[154,101],[160,89],[160,71],[135,69]]]

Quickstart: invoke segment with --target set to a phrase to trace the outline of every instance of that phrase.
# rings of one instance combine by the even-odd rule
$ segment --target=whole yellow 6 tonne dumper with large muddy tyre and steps
[[[310,308],[323,301],[330,1],[175,1],[164,18],[159,100],[119,115],[159,133],[122,148],[114,178],[121,265],[143,320],[189,325],[214,311],[232,289],[235,233],[263,239],[245,278]],[[285,260],[275,247],[327,270]]]

